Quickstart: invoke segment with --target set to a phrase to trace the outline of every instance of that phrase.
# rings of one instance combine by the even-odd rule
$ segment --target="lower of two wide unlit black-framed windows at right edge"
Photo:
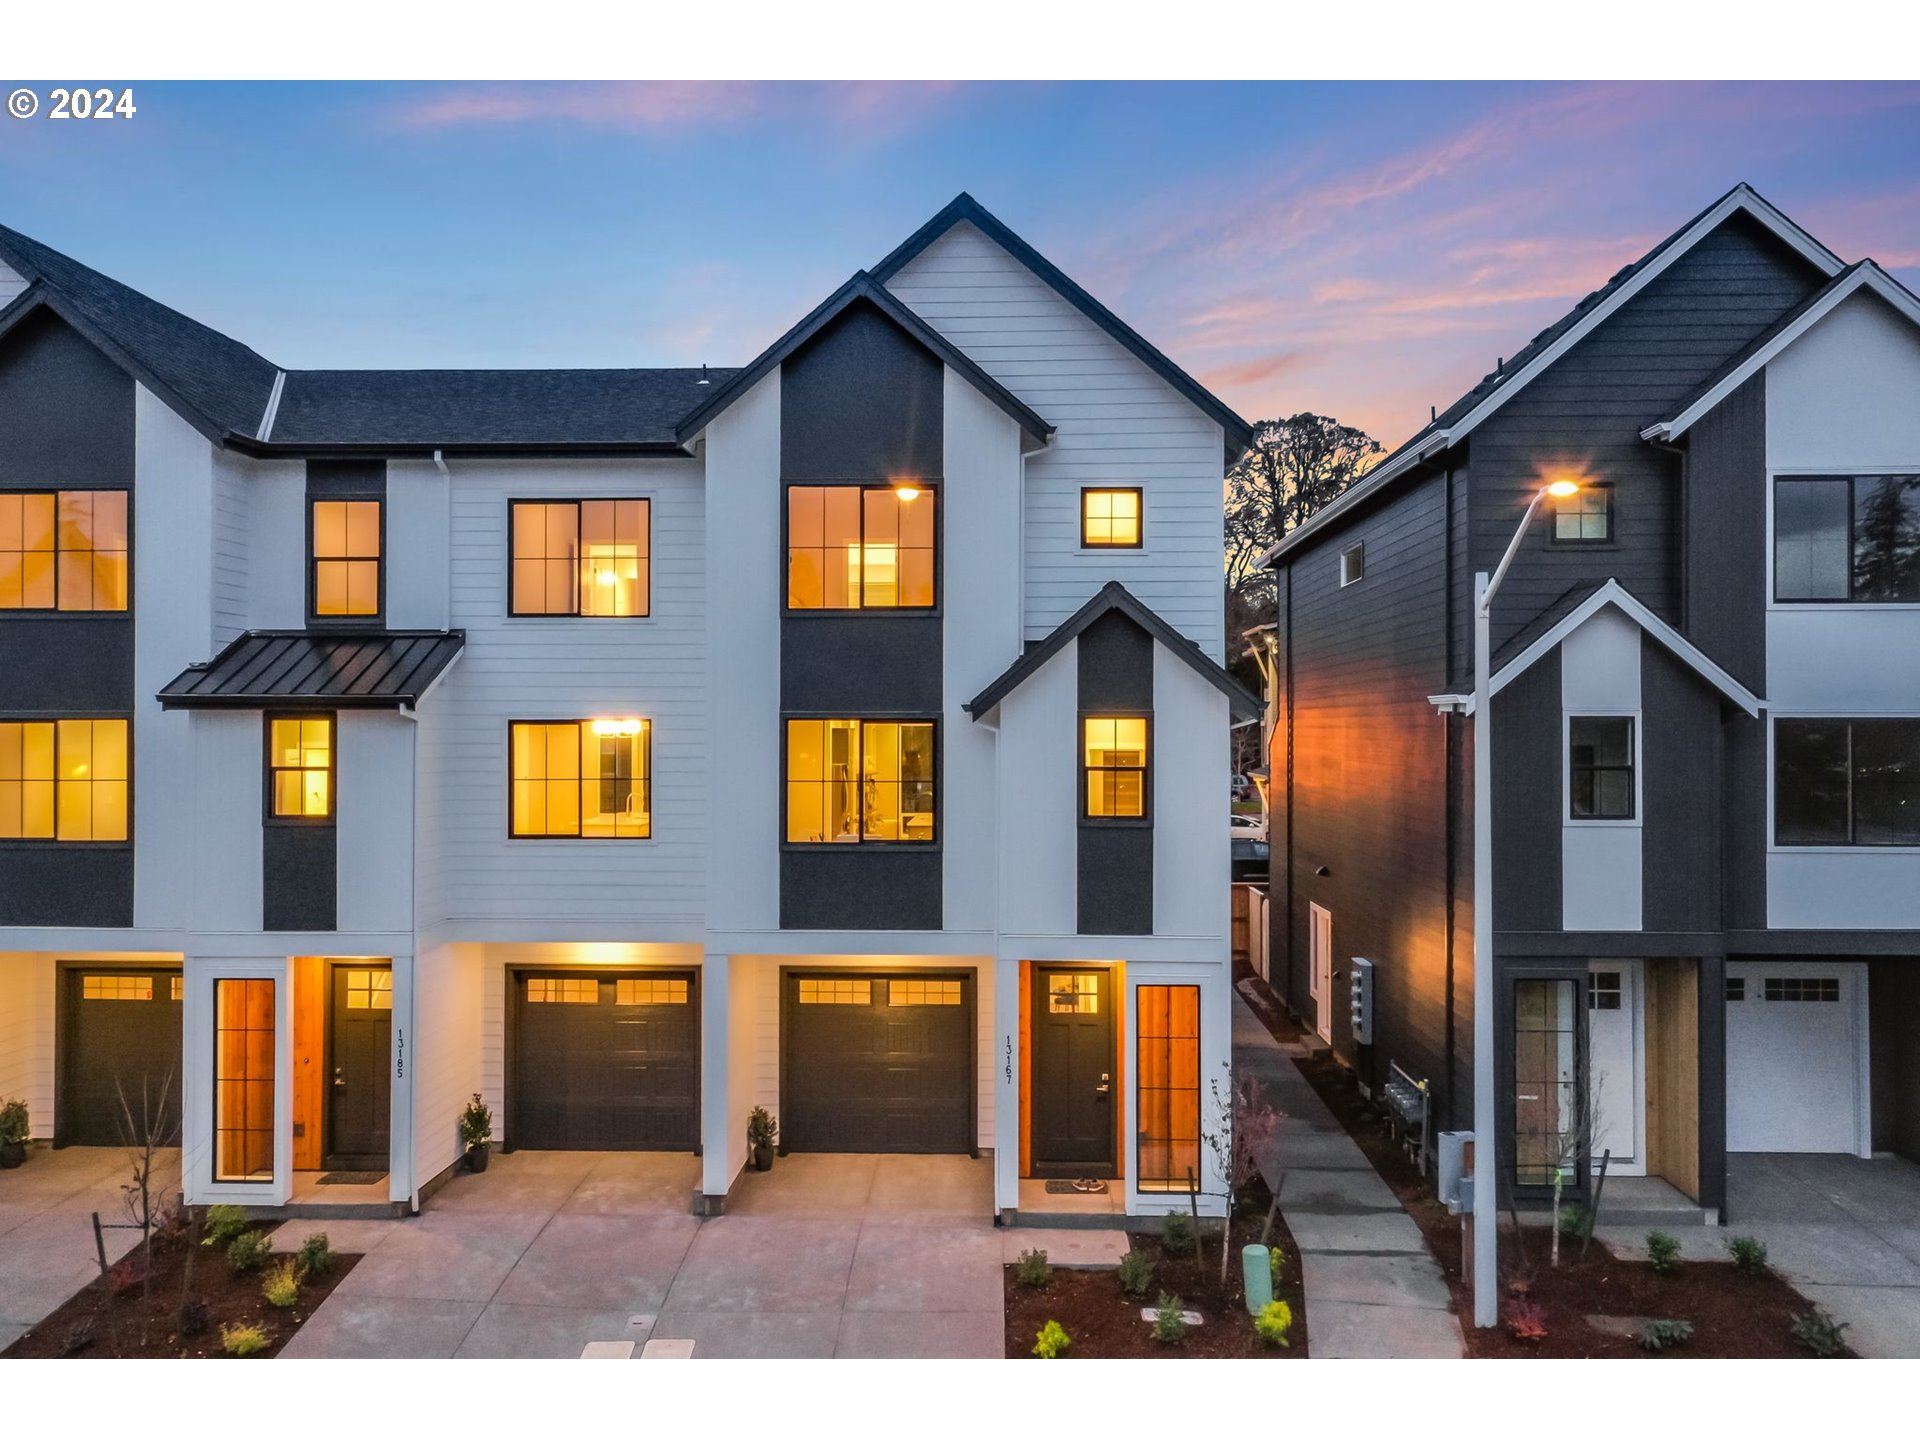
[[[1776,720],[1774,845],[1920,845],[1920,716]]]

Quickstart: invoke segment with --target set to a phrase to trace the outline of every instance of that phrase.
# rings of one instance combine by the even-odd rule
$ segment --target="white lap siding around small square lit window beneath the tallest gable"
[[[1027,459],[1025,637],[1119,580],[1221,660],[1221,428],[972,225],[887,288],[1056,426]],[[1146,492],[1140,551],[1081,551],[1079,492],[1102,484]]]

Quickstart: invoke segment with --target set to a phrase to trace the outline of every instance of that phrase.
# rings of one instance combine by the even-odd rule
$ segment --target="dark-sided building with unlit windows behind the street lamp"
[[[1469,1129],[1473,576],[1582,486],[1492,611],[1523,1202],[1590,1102],[1611,1173],[1707,1210],[1730,1150],[1920,1158],[1916,323],[1738,186],[1275,547],[1275,983]]]

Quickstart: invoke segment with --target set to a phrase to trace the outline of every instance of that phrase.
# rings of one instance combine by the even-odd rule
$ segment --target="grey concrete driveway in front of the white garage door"
[[[1724,1260],[1753,1235],[1795,1290],[1847,1321],[1847,1344],[1920,1357],[1920,1165],[1895,1156],[1728,1156],[1726,1227],[1676,1229],[1682,1252]],[[1642,1250],[1644,1235],[1605,1235]]]

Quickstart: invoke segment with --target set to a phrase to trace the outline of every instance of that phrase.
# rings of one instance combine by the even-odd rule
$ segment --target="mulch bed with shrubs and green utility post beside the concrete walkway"
[[[1233,1258],[1227,1267],[1227,1288],[1219,1286],[1219,1221],[1200,1221],[1200,1254],[1169,1256],[1158,1235],[1133,1235],[1131,1246],[1154,1261],[1154,1284],[1146,1296],[1131,1296],[1119,1288],[1112,1269],[1056,1269],[1044,1290],[1023,1286],[1016,1267],[1006,1267],[1006,1354],[1010,1359],[1033,1356],[1033,1336],[1046,1321],[1066,1327],[1073,1346],[1062,1359],[1306,1359],[1308,1309],[1300,1290],[1300,1261],[1294,1256],[1294,1236],[1286,1217],[1277,1215],[1269,1244],[1286,1252],[1286,1267],[1273,1288],[1275,1300],[1284,1300],[1294,1311],[1286,1346],[1269,1346],[1254,1332],[1254,1317],[1246,1313],[1246,1288],[1240,1283],[1240,1246],[1260,1238],[1267,1219],[1269,1196],[1263,1185],[1254,1187],[1242,1206],[1242,1217],[1233,1223]],[[1188,1327],[1179,1344],[1162,1344],[1154,1327],[1140,1319],[1142,1306],[1152,1306],[1160,1290],[1171,1290],[1185,1309],[1198,1311],[1200,1325]]]

